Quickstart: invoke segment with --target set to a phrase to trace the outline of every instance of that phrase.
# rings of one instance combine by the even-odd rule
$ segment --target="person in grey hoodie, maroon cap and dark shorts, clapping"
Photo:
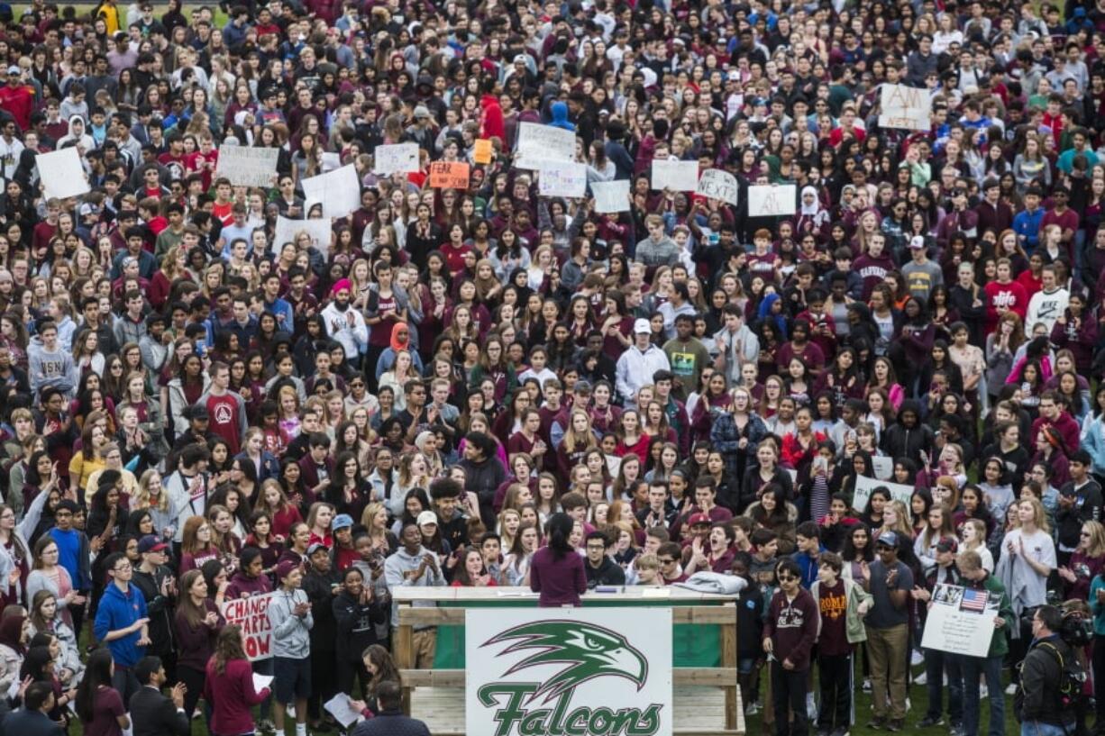
[[[295,704],[295,736],[307,735],[307,697],[311,695],[311,628],[315,624],[311,602],[302,589],[303,570],[285,560],[276,566],[281,587],[269,603],[272,628],[273,721],[276,733],[284,732],[284,712]]]

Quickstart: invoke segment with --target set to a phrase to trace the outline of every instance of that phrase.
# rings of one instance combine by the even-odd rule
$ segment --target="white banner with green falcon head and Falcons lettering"
[[[671,736],[672,611],[627,613],[469,609],[466,732]]]

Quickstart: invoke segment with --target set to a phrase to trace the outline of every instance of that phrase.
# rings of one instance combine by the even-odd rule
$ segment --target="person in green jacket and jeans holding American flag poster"
[[[990,639],[990,651],[986,656],[962,656],[961,670],[964,677],[964,736],[978,736],[979,728],[979,677],[986,677],[987,691],[992,693],[990,700],[989,736],[1001,736],[1006,729],[1006,703],[1001,697],[1001,663],[1009,651],[1006,632],[1009,621],[1013,620],[1012,603],[1006,587],[998,578],[986,571],[982,558],[974,550],[964,550],[956,558],[959,568],[959,585],[974,590],[985,590],[987,600],[999,599],[998,618],[993,620],[993,637]]]

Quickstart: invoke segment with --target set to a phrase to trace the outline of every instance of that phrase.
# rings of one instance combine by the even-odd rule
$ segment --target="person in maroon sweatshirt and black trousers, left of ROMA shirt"
[[[820,617],[813,596],[802,588],[798,562],[785,559],[776,568],[779,590],[771,597],[764,622],[764,652],[771,663],[776,736],[807,736],[806,684]],[[904,663],[903,663],[904,664]],[[790,716],[793,716],[793,723]]]

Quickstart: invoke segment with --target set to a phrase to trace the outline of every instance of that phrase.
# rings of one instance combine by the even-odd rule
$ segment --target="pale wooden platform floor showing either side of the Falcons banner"
[[[725,692],[719,687],[675,685],[675,733],[680,736],[723,736],[745,733],[745,714],[737,691],[737,728],[725,729]],[[418,687],[411,692],[411,715],[421,718],[433,736],[464,736],[464,690]],[[487,736],[472,734],[472,736]]]

